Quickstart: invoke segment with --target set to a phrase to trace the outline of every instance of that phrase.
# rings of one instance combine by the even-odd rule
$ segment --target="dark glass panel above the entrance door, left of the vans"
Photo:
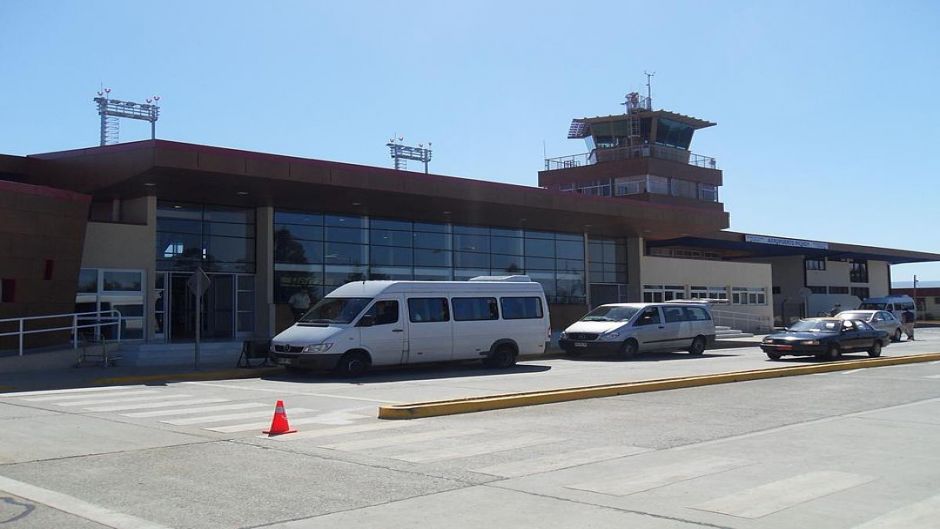
[[[255,271],[253,209],[159,202],[157,270]]]

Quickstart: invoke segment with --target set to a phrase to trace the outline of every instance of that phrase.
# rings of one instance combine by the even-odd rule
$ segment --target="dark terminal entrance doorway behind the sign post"
[[[171,273],[169,306],[169,339],[190,342],[196,339],[196,296],[187,288],[191,274]],[[236,297],[234,274],[209,274],[209,289],[202,296],[200,320],[203,340],[235,338]]]

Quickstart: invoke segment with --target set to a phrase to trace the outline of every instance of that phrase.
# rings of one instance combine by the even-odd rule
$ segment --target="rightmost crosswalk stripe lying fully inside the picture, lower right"
[[[739,518],[761,518],[809,500],[857,487],[874,479],[870,476],[847,472],[809,472],[736,492],[696,505],[693,509]]]

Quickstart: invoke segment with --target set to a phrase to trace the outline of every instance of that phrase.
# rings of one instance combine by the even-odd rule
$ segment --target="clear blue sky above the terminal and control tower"
[[[649,70],[654,107],[718,123],[692,150],[731,229],[940,252],[936,1],[2,0],[0,24],[0,153],[97,145],[103,83],[159,94],[158,138],[388,167],[397,133],[432,172],[536,185]]]

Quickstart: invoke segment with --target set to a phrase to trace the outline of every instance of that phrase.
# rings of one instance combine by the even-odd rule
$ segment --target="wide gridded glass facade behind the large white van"
[[[364,279],[527,274],[552,303],[585,302],[584,236],[276,210],[274,296],[321,299]]]

